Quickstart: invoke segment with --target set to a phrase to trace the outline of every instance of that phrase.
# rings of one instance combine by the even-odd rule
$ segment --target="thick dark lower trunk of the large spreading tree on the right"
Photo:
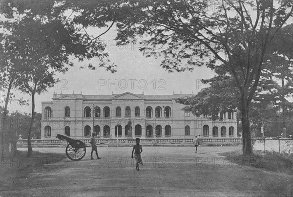
[[[242,153],[252,154],[251,131],[249,121],[249,105],[247,99],[241,98],[241,121],[242,121]]]

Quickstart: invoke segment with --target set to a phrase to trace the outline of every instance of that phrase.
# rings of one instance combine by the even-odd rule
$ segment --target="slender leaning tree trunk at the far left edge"
[[[5,132],[4,126],[6,124],[7,107],[9,102],[10,91],[12,88],[12,83],[13,83],[13,78],[9,82],[9,86],[7,89],[7,96],[5,99],[5,107],[4,107],[2,120],[1,120],[1,151],[0,151],[1,158],[3,158],[6,155],[6,153],[8,153],[8,146],[9,146],[9,143],[8,143],[9,140],[7,139],[8,133]]]

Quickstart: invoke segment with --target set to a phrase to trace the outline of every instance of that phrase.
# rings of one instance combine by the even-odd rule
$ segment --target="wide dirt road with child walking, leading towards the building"
[[[131,147],[98,148],[100,160],[62,161],[27,167],[1,185],[1,196],[292,196],[291,175],[226,161],[218,153],[241,147],[143,147],[145,166],[138,172]],[[25,149],[24,149],[25,150]],[[239,161],[241,163],[242,161]]]

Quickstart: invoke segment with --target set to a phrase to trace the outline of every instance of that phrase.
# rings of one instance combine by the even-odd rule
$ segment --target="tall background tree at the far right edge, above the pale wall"
[[[293,104],[286,98],[293,96],[293,24],[282,28],[272,42],[269,57],[264,62],[262,76],[266,82],[263,90],[273,97],[277,109],[282,109],[282,128],[286,136],[286,114]]]

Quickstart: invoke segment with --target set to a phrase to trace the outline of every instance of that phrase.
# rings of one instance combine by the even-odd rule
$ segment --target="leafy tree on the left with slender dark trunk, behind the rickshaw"
[[[1,9],[1,34],[3,54],[7,58],[1,61],[1,81],[8,80],[8,95],[10,90],[20,89],[32,96],[32,117],[28,130],[28,156],[32,153],[30,134],[35,118],[35,94],[46,91],[58,79],[56,72],[66,72],[73,63],[70,57],[79,61],[98,58],[100,67],[115,72],[115,65],[104,62],[108,54],[104,52],[105,44],[94,39],[83,29],[75,25],[66,14],[72,11],[64,6],[64,2],[46,1],[49,9],[35,9],[33,5],[20,6],[18,2],[7,1]],[[39,6],[38,6],[39,7]],[[72,11],[74,12],[74,11]],[[101,25],[103,26],[103,25]],[[84,30],[85,31],[85,30]],[[86,31],[85,31],[86,32]],[[96,67],[89,64],[90,69]],[[9,96],[6,97],[7,109]],[[6,114],[3,113],[3,119]],[[4,132],[4,131],[3,131]],[[1,150],[2,152],[2,150]]]

